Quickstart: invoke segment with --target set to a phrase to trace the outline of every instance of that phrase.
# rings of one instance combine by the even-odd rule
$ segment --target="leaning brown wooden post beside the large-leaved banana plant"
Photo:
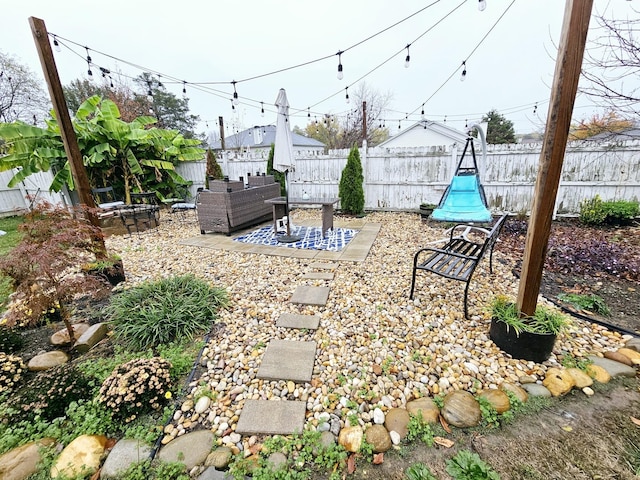
[[[58,126],[60,127],[60,135],[62,136],[62,142],[64,143],[64,151],[67,154],[69,160],[69,166],[71,167],[71,175],[75,186],[78,190],[78,196],[80,197],[80,203],[90,208],[95,208],[96,204],[93,201],[91,195],[91,187],[89,186],[89,177],[87,171],[84,168],[82,162],[82,154],[78,148],[78,139],[76,132],[73,130],[73,124],[69,117],[69,110],[67,109],[67,102],[64,99],[62,92],[62,85],[60,84],[60,77],[58,76],[58,69],[53,58],[53,52],[51,51],[51,44],[49,43],[49,34],[47,33],[47,27],[44,21],[36,18],[29,17],[29,25],[31,25],[31,33],[36,43],[36,49],[38,50],[38,56],[40,57],[40,64],[42,65],[42,71],[44,78],[49,88],[49,95],[51,96],[51,102],[53,103],[53,109],[56,113],[58,120]],[[89,213],[89,221],[95,225],[100,226],[100,221],[97,215]]]

